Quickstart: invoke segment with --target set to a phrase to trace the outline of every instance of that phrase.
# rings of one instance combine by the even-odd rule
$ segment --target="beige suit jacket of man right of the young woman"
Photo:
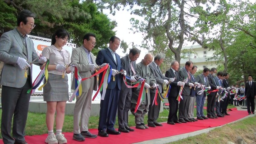
[[[96,65],[95,57],[93,53],[90,52],[90,55],[91,55],[93,64]],[[90,63],[83,46],[80,46],[72,51],[71,63],[73,63],[77,67],[81,78],[88,78],[92,75],[92,71],[90,71]],[[71,89],[75,89],[75,80],[76,79],[74,75]],[[87,92],[89,90],[90,88],[89,80],[90,79],[87,79],[81,82],[82,92]],[[97,76],[94,76],[93,90],[97,90],[97,86],[98,86]]]

